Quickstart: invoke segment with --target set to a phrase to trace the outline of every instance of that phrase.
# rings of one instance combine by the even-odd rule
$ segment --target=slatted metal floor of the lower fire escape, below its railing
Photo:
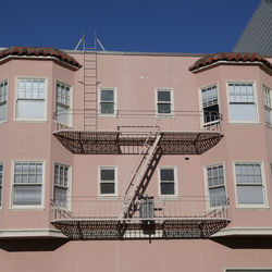
[[[52,225],[71,239],[208,238],[224,228],[226,218],[61,219]]]

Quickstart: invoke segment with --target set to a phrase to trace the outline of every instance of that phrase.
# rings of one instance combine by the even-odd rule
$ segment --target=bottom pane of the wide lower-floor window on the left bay
[[[14,185],[13,187],[13,205],[40,205],[41,203],[41,186]]]

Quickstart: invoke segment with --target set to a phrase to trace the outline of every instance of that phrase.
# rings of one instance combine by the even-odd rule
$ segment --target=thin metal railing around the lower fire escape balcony
[[[228,206],[228,200],[223,197],[137,197],[131,212],[123,218],[123,203],[131,201],[124,197],[73,197],[60,201],[52,201],[54,221],[227,219]]]

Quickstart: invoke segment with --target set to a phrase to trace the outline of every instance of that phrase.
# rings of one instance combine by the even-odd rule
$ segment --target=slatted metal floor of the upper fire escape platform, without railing
[[[159,147],[163,154],[201,154],[223,137],[217,131],[160,131]],[[74,154],[138,153],[150,132],[55,131],[55,138]],[[150,137],[152,145],[156,137]]]

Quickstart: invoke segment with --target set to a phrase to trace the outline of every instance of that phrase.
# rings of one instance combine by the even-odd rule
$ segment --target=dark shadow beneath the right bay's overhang
[[[233,249],[272,249],[272,237],[233,236],[214,237],[211,240]]]

